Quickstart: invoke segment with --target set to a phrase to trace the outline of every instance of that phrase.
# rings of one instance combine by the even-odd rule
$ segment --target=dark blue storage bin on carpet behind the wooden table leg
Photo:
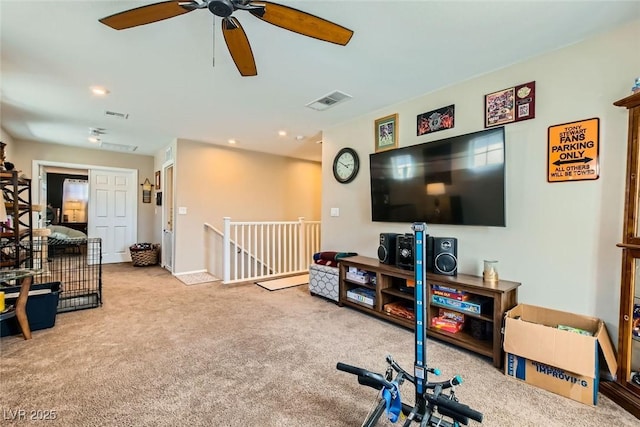
[[[27,319],[32,331],[55,326],[61,286],[60,282],[31,285],[27,299]],[[6,296],[5,304],[15,305],[20,286],[5,286],[1,290]],[[15,297],[9,297],[11,294],[15,294]],[[21,333],[20,326],[15,316],[0,321],[0,337],[19,333]]]

